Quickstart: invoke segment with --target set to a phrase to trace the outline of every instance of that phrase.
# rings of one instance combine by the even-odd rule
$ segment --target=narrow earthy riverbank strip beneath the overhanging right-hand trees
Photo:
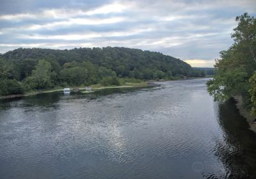
[[[250,112],[245,109],[244,105],[243,105],[243,98],[241,96],[236,96],[233,97],[234,100],[236,100],[236,107],[239,110],[239,113],[246,118],[246,121],[248,122],[248,124],[250,125],[250,129],[256,133],[256,123],[254,123],[254,118],[250,115]]]

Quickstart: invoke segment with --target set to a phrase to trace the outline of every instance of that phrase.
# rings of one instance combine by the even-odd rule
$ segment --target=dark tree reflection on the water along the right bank
[[[216,156],[227,168],[228,178],[256,178],[256,134],[238,113],[234,100],[220,104],[225,140],[216,144]]]

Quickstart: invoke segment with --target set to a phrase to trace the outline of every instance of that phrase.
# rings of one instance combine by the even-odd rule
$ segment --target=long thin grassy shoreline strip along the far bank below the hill
[[[157,80],[157,81],[140,81],[140,82],[124,82],[123,84],[120,84],[119,86],[116,85],[107,85],[104,86],[102,84],[92,84],[90,86],[70,86],[69,88],[71,91],[78,90],[80,93],[92,93],[96,90],[101,89],[111,89],[111,88],[145,88],[150,86],[157,86],[155,82],[161,82],[161,81],[176,81],[176,80],[190,80],[190,79],[205,79],[209,77],[189,77],[189,78],[177,78],[172,80]],[[90,87],[92,91],[86,90],[87,87]],[[68,88],[68,87],[67,87]],[[45,89],[45,90],[38,90],[38,91],[31,91],[29,93],[24,94],[17,94],[17,95],[6,95],[6,96],[0,96],[0,99],[6,99],[6,98],[18,98],[18,97],[28,97],[32,95],[38,95],[43,93],[53,93],[57,91],[63,91],[63,87],[58,86],[56,88],[52,89]]]

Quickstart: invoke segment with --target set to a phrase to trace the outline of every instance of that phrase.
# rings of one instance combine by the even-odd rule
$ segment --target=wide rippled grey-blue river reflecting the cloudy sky
[[[0,178],[256,178],[256,135],[207,79],[0,101]]]

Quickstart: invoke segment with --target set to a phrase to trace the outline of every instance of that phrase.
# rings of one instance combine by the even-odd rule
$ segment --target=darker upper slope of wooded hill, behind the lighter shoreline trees
[[[46,59],[57,61],[60,66],[76,61],[88,61],[93,65],[104,66],[116,72],[119,77],[153,79],[156,72],[164,76],[193,76],[193,69],[184,61],[159,52],[141,51],[124,47],[80,48],[72,50],[16,49],[3,54],[4,59]],[[17,62],[19,63],[19,62]],[[160,78],[163,78],[160,75]]]

